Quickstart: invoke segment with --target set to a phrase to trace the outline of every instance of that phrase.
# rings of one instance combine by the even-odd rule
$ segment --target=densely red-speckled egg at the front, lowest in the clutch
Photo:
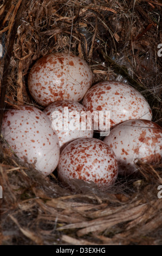
[[[79,138],[67,145],[57,166],[59,180],[93,181],[101,190],[114,184],[118,163],[113,150],[96,138]]]

